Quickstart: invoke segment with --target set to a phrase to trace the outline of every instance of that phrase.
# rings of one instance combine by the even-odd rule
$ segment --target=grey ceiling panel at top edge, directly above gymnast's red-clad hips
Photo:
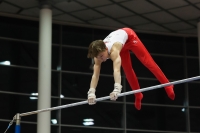
[[[123,6],[126,6],[128,9],[137,12],[137,13],[147,13],[153,11],[159,11],[160,9],[150,4],[146,0],[134,0],[129,2],[121,3]]]

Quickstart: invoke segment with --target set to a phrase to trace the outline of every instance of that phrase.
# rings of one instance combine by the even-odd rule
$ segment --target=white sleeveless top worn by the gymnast
[[[120,42],[120,43],[122,43],[122,45],[124,45],[126,43],[127,39],[128,39],[127,33],[124,30],[119,29],[119,30],[111,32],[103,40],[103,42],[106,44],[106,47],[108,48],[108,53],[110,54],[110,50],[114,43]]]

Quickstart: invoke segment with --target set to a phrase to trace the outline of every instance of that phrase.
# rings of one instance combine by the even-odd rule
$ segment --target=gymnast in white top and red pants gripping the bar
[[[129,51],[132,51],[135,54],[141,63],[154,74],[161,84],[169,82],[136,33],[130,28],[118,29],[111,32],[104,40],[96,40],[89,45],[87,57],[94,59],[93,75],[90,89],[87,93],[89,105],[96,103],[95,91],[99,80],[101,63],[105,62],[107,59],[113,61],[113,76],[115,81],[114,90],[110,93],[110,100],[115,101],[118,97],[117,95],[120,94],[122,90],[121,66],[131,89],[140,89],[138,79],[132,68]],[[173,87],[173,85],[165,87],[168,97],[172,100],[175,98]],[[143,94],[141,92],[135,94],[135,107],[137,110],[141,109],[142,98]]]

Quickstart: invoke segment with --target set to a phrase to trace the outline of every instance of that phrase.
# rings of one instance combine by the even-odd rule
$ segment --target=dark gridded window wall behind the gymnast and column
[[[104,39],[111,31],[53,24],[52,32],[51,106],[86,100],[93,72],[87,47],[95,39]],[[29,97],[37,93],[38,34],[37,21],[0,17],[0,62],[11,62],[11,65],[0,65],[0,133],[16,113],[37,110],[37,100]],[[196,37],[137,34],[170,81],[199,75]],[[141,88],[158,85],[153,74],[134,54],[131,56]],[[112,62],[103,63],[97,97],[108,96],[113,90],[112,73]],[[123,91],[131,91],[124,75],[122,77]],[[163,88],[144,92],[140,111],[133,105],[133,95],[120,97],[117,102],[107,100],[94,106],[52,111],[51,117],[57,119],[58,124],[52,124],[51,132],[200,132],[199,87],[199,81],[175,85],[174,101],[167,97]],[[60,98],[61,94],[64,98]],[[84,126],[85,118],[93,118],[94,125]],[[36,122],[36,115],[22,117],[21,132],[35,133]],[[8,133],[14,132],[14,124]]]

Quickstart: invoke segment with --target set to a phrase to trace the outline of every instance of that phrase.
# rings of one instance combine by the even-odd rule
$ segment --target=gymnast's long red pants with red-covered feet
[[[124,44],[120,56],[122,60],[122,68],[125,72],[126,78],[131,86],[132,90],[140,89],[138,79],[136,74],[132,68],[131,58],[129,51],[132,51],[135,56],[141,61],[141,63],[146,66],[159,80],[160,83],[168,83],[168,79],[159,68],[159,66],[155,63],[143,43],[140,41],[136,33],[130,28],[123,28],[124,31],[128,34],[128,40]],[[172,100],[175,98],[175,94],[173,91],[173,85],[165,87],[165,91]],[[135,107],[140,110],[141,109],[141,100],[143,98],[142,93],[135,94]]]

